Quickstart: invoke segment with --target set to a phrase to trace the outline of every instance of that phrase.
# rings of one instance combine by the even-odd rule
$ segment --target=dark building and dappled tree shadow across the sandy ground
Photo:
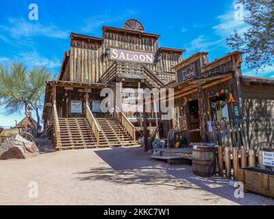
[[[92,168],[77,172],[81,181],[108,181],[120,185],[140,184],[164,185],[175,190],[204,190],[203,200],[217,201],[227,198],[241,205],[263,205],[268,198],[256,194],[245,194],[245,198],[235,198],[234,189],[228,186],[223,177],[202,178],[192,174],[191,166],[174,165],[150,159],[140,148],[115,148],[95,151],[110,167]],[[215,194],[216,197],[213,194]],[[253,196],[253,201],[249,197]],[[254,203],[254,196],[256,203]],[[272,200],[273,201],[273,200]],[[271,200],[269,200],[271,203]],[[274,205],[274,201],[272,203]]]

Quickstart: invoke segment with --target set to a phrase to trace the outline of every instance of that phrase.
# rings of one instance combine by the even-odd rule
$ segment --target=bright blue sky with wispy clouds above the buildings
[[[29,4],[38,5],[38,21],[29,20]],[[47,65],[58,73],[64,51],[69,50],[71,32],[101,37],[101,27],[122,27],[129,18],[137,18],[150,33],[160,34],[160,46],[186,49],[184,57],[208,51],[210,61],[231,49],[225,39],[247,26],[234,19],[234,0],[222,1],[88,1],[88,0],[1,0],[0,62],[14,60],[28,68]],[[255,70],[242,66],[246,75]],[[274,77],[274,68],[259,73]],[[0,126],[14,125],[22,114],[6,116],[0,110]]]

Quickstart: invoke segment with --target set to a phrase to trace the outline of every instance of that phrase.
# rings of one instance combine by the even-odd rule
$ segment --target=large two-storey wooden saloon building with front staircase
[[[101,90],[115,92],[119,83],[135,90],[124,94],[130,100],[138,88],[162,88],[176,79],[173,67],[182,62],[184,50],[159,47],[160,35],[147,33],[139,21],[103,26],[102,32],[102,38],[71,34],[58,80],[47,81],[44,128],[57,149],[136,144],[142,116],[115,106],[112,114],[101,112]],[[152,107],[150,127],[161,123],[158,117]]]

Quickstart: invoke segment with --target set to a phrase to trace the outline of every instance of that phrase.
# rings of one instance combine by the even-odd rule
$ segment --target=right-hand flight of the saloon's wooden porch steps
[[[101,129],[99,147],[136,145],[132,136],[126,131],[119,120],[112,118],[97,118]]]

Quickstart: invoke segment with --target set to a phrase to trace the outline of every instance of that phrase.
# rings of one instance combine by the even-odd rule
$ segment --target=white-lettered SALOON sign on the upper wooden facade
[[[110,48],[110,60],[140,62],[153,64],[154,53],[129,51],[125,49]]]

